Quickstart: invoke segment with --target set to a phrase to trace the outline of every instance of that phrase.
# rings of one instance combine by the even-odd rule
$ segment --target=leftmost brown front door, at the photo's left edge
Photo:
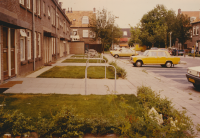
[[[3,27],[3,79],[8,79],[8,28]]]

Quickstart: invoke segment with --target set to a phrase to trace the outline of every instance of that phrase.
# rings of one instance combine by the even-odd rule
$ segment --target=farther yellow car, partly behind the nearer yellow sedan
[[[138,55],[138,53],[135,50],[124,48],[124,49],[120,49],[119,51],[112,51],[111,55],[118,58],[118,57],[135,56],[135,55]]]

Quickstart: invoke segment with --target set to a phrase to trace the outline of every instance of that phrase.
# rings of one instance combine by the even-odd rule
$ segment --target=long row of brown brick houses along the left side
[[[1,0],[1,83],[69,54],[69,26],[57,0]]]

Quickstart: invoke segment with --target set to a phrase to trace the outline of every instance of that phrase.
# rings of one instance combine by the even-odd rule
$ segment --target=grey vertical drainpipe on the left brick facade
[[[34,15],[34,0],[33,0],[33,24],[32,24],[32,36],[33,36],[33,71],[35,71],[35,15]]]

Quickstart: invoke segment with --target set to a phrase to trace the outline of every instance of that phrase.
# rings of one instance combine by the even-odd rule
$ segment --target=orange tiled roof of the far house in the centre
[[[66,11],[66,15],[72,22],[70,27],[88,27],[88,24],[82,24],[83,16],[88,16],[90,22],[92,16],[94,16],[95,14],[93,13],[93,11]]]

